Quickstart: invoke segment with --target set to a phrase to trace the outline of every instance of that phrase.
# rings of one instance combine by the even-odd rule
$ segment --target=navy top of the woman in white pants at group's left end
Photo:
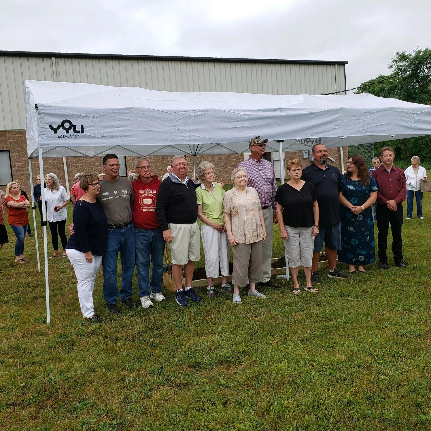
[[[89,203],[79,199],[73,208],[73,228],[75,234],[69,237],[66,248],[85,253],[91,251],[103,256],[108,241],[106,215],[98,201]]]

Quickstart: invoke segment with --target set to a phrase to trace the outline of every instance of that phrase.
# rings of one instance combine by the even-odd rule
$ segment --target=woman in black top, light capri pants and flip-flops
[[[275,202],[284,251],[292,273],[292,293],[301,293],[298,283],[300,266],[305,274],[304,290],[319,292],[319,289],[311,284],[314,237],[319,234],[319,194],[312,183],[301,180],[300,160],[287,162],[287,174],[290,180],[278,187]]]

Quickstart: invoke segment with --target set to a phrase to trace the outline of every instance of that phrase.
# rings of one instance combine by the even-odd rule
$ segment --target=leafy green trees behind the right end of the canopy
[[[431,48],[417,48],[413,53],[396,51],[388,67],[393,71],[391,75],[379,75],[363,82],[356,93],[370,93],[379,97],[393,97],[406,102],[431,105]],[[404,75],[396,76],[400,73]],[[382,81],[391,77],[393,78]],[[411,157],[419,156],[421,165],[425,164],[431,168],[430,136],[375,143],[375,155],[378,156],[380,148],[386,145],[394,148],[398,166],[409,166]]]

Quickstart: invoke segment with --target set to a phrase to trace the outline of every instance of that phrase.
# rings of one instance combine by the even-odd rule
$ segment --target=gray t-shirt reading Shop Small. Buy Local
[[[97,200],[105,211],[108,225],[125,225],[131,221],[133,196],[133,186],[127,178],[118,177],[117,181],[103,178]]]

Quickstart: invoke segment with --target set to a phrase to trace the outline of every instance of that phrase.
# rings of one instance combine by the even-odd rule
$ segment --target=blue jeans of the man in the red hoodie
[[[140,229],[135,228],[135,253],[137,282],[139,284],[139,296],[149,296],[150,257],[153,269],[151,271],[150,288],[153,293],[162,291],[163,252],[165,240],[160,228]]]

